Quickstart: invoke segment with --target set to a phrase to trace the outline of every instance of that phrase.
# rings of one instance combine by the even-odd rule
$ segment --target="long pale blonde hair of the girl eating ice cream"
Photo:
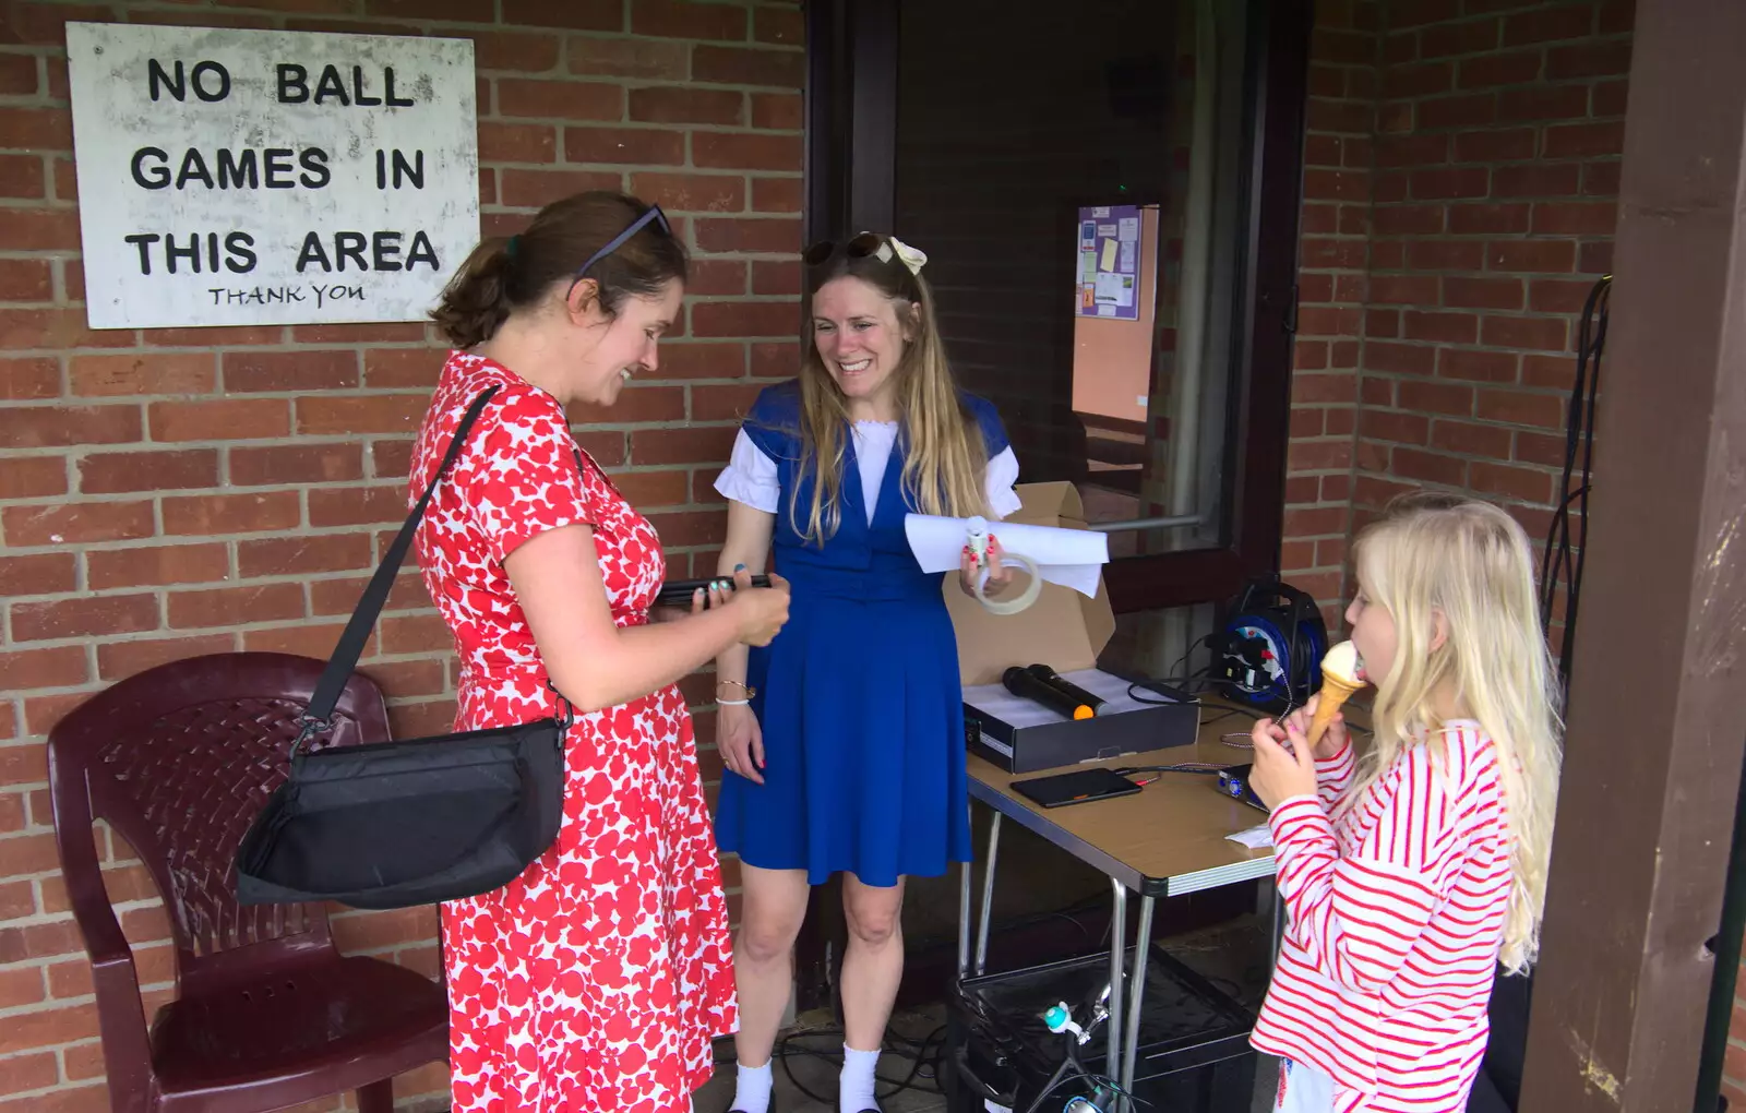
[[[1372,677],[1376,743],[1348,806],[1414,738],[1440,752],[1433,703],[1447,684],[1496,747],[1512,839],[1500,961],[1519,973],[1540,951],[1563,731],[1528,534],[1488,502],[1407,495],[1358,536],[1357,569],[1399,640],[1388,675]],[[1447,637],[1432,647],[1435,614]]]

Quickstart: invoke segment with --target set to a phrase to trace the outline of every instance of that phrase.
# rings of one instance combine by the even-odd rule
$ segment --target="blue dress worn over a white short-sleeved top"
[[[988,455],[1007,448],[993,406],[964,399]],[[812,884],[842,871],[873,886],[945,874],[971,858],[959,647],[943,576],[922,572],[904,537],[917,508],[903,490],[903,438],[871,523],[845,438],[842,522],[819,546],[789,513],[791,492],[801,522],[812,506],[812,480],[798,478],[798,384],[763,391],[744,429],[777,462],[775,570],[793,598],[746,677],[758,689],[765,783],[723,773],[716,839],[749,865],[803,869]]]

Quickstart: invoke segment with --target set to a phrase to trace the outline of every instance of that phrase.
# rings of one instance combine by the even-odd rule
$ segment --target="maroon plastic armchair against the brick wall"
[[[278,652],[175,661],[110,687],[49,733],[54,839],[96,980],[115,1113],[255,1113],[358,1090],[393,1110],[393,1076],[449,1054],[440,986],[340,958],[316,904],[243,907],[236,846],[286,775],[321,661]],[[368,679],[325,745],[388,740]],[[98,867],[108,820],[152,871],[176,944],[176,1000],[150,1029],[133,953]]]

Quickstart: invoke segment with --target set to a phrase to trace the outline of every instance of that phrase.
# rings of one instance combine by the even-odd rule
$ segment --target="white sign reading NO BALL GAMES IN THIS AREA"
[[[464,38],[68,23],[91,328],[417,321],[478,241]]]

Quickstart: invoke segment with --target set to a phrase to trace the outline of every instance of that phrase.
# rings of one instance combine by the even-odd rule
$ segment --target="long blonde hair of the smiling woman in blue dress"
[[[873,286],[897,307],[906,323],[903,358],[892,372],[897,394],[897,427],[904,445],[903,490],[924,515],[966,518],[986,513],[983,476],[986,448],[976,417],[959,396],[946,347],[934,318],[934,291],[927,279],[911,274],[896,253],[833,253],[814,270],[812,290],[854,277]],[[913,309],[911,309],[913,307]],[[801,483],[789,495],[789,522],[808,543],[824,544],[842,525],[843,455],[850,427],[849,398],[824,366],[814,338],[812,305],[800,335],[800,476],[812,475],[812,506],[801,527]]]

